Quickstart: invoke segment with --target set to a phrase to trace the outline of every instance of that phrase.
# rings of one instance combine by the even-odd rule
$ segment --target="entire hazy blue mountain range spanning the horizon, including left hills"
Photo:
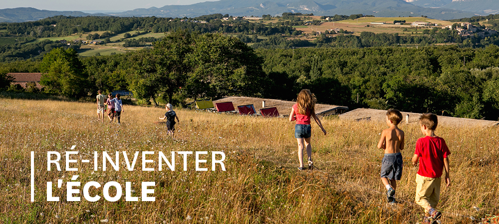
[[[214,13],[234,16],[283,12],[314,15],[366,14],[376,17],[421,15],[436,19],[456,19],[499,12],[499,0],[219,0],[191,5],[165,5],[107,13],[114,16],[196,17]],[[0,9],[0,22],[34,21],[55,15],[87,16],[106,14],[81,11],[50,11],[36,8]]]

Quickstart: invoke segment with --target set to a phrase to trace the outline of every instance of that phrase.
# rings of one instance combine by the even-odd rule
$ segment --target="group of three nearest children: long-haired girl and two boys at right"
[[[313,169],[311,138],[311,118],[313,117],[324,135],[326,130],[315,114],[314,107],[317,102],[315,95],[310,90],[301,90],[289,114],[289,121],[296,121],[294,137],[298,142],[298,170],[305,170],[303,166],[303,149],[307,152],[308,169]],[[386,123],[389,128],[383,130],[378,142],[378,148],[384,149],[384,157],[381,162],[381,181],[387,189],[387,201],[390,204],[397,203],[395,190],[397,181],[402,176],[403,160],[401,150],[404,149],[404,131],[398,124],[402,121],[402,113],[398,110],[386,112]],[[449,177],[449,158],[451,154],[445,140],[435,134],[438,118],[436,114],[424,113],[419,118],[421,132],[425,137],[416,142],[416,149],[412,157],[412,165],[417,165],[419,170],[416,174],[416,204],[425,210],[423,223],[436,224],[442,217],[437,211],[440,199],[441,177],[445,168],[445,183],[451,186]]]

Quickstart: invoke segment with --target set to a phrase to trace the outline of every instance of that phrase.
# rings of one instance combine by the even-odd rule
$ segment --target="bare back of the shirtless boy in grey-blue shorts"
[[[378,148],[385,149],[386,153],[397,153],[404,149],[404,131],[397,125],[390,125],[381,132]]]

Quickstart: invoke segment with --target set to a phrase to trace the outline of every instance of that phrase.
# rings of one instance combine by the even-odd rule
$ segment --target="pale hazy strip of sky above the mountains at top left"
[[[194,4],[216,0],[0,0],[0,9],[33,7],[55,11],[109,10],[126,11],[135,8],[163,7],[171,4]]]

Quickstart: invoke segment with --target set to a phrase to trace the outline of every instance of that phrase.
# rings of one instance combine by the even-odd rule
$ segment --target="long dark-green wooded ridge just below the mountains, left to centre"
[[[177,29],[187,29],[199,33],[226,32],[226,33],[257,33],[260,35],[292,34],[296,29],[290,25],[268,26],[253,23],[243,19],[221,20],[222,14],[204,15],[196,18],[163,18],[163,17],[115,17],[115,16],[54,16],[37,21],[19,23],[0,23],[2,36],[23,37],[60,37],[74,33],[88,33],[106,31],[105,35],[91,34],[87,39],[115,35],[119,33],[149,30],[154,33],[173,32]],[[208,22],[197,22],[205,19]],[[300,32],[298,32],[299,34]],[[98,35],[98,34],[97,34]]]

